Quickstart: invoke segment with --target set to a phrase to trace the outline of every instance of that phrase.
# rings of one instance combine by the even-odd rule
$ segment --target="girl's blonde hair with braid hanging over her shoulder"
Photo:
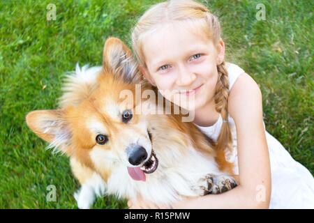
[[[140,65],[146,67],[142,45],[144,37],[154,32],[160,24],[170,24],[171,22],[180,22],[181,24],[190,24],[197,34],[205,35],[209,40],[213,40],[216,45],[220,40],[221,29],[218,18],[211,14],[207,7],[201,3],[192,0],[170,0],[157,3],[147,10],[132,31],[132,47],[137,61]],[[196,27],[196,28],[195,28]],[[216,141],[216,149],[220,152],[225,148],[230,148],[232,141],[230,127],[227,123],[227,101],[229,95],[228,74],[225,68],[225,61],[217,66],[218,80],[214,100],[216,102],[216,111],[223,118],[223,126],[220,135]],[[218,155],[221,157],[221,154]],[[219,160],[218,160],[219,161]],[[221,160],[223,162],[223,160]]]

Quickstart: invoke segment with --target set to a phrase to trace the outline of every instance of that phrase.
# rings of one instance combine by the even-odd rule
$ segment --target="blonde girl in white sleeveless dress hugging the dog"
[[[220,24],[205,6],[158,3],[137,22],[132,42],[144,77],[172,92],[164,94],[167,100],[180,105],[178,90],[181,98],[194,97],[195,107],[188,109],[195,112],[195,125],[218,148],[230,150],[227,160],[239,183],[172,208],[314,208],[313,176],[265,131],[260,89],[239,66],[225,63]],[[128,206],[169,208],[142,200]]]

